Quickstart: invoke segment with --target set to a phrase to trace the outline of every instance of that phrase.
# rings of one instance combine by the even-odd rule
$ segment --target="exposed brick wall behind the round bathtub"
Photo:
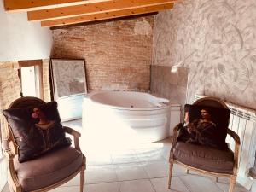
[[[88,90],[149,90],[153,16],[53,30],[55,58],[84,58]]]

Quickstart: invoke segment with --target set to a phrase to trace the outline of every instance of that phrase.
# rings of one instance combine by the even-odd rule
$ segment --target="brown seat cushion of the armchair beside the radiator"
[[[229,150],[219,150],[191,143],[177,142],[174,160],[208,172],[233,173],[234,154]]]

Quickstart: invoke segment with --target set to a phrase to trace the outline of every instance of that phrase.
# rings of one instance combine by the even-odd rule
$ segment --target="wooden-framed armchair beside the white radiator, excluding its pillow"
[[[193,106],[204,106],[210,108],[228,109],[224,102],[213,97],[205,97],[193,103]],[[229,118],[227,123],[229,123]],[[228,124],[227,124],[228,125]],[[200,172],[213,177],[228,177],[230,178],[229,192],[233,192],[236,184],[236,174],[238,165],[238,154],[240,148],[240,139],[236,132],[231,131],[228,127],[222,127],[227,134],[235,140],[235,150],[229,148],[221,150],[204,145],[196,145],[193,143],[184,143],[178,141],[178,133],[183,129],[183,124],[179,124],[174,128],[173,143],[169,158],[169,178],[168,189],[172,188],[172,167],[173,164],[184,166],[189,170]]]

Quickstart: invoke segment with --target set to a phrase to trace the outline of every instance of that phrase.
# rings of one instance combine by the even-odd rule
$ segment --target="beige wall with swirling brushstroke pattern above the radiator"
[[[189,102],[205,94],[256,108],[255,10],[255,0],[177,3],[154,18],[153,65],[189,67]]]

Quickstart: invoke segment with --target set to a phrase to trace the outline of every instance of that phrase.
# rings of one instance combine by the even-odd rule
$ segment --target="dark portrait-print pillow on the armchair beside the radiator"
[[[210,114],[211,123],[201,123],[202,109],[206,109]],[[179,141],[208,145],[219,149],[227,148],[225,138],[230,122],[229,109],[186,104],[185,112],[189,113],[188,127],[195,127],[200,134],[196,134],[195,131],[192,133],[181,131],[178,136]]]

